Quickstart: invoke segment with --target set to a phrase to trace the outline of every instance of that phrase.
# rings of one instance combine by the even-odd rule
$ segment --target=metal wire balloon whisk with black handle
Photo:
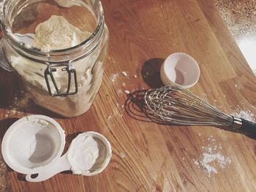
[[[144,99],[155,115],[173,125],[225,126],[243,131],[248,128],[249,131],[256,130],[255,123],[227,115],[190,91],[176,86],[148,90]]]

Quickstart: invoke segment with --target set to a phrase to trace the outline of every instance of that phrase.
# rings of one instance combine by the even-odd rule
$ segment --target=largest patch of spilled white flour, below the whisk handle
[[[222,155],[222,145],[216,143],[216,139],[213,136],[208,137],[207,146],[202,146],[203,153],[200,155],[200,159],[193,159],[194,164],[203,169],[208,177],[211,174],[217,174],[218,169],[225,169],[231,164],[231,159]]]

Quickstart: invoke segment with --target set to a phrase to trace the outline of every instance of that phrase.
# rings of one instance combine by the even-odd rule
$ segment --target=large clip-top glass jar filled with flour
[[[109,35],[101,2],[7,0],[2,11],[5,58],[34,102],[64,117],[89,110],[102,83],[108,53]],[[42,23],[45,25],[39,27]],[[46,27],[52,31],[40,31]],[[74,41],[84,38],[77,31],[87,37],[75,45]],[[59,47],[34,46],[36,39],[46,47],[56,41]]]

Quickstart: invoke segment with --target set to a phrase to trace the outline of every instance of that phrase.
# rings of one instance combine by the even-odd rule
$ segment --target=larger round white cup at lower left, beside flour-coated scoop
[[[16,172],[35,174],[61,157],[65,134],[44,115],[21,118],[8,128],[1,145],[4,161]]]

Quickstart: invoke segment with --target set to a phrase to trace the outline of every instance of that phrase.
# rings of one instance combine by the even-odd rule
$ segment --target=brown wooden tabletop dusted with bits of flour
[[[102,0],[102,5],[110,51],[91,110],[69,119],[39,107],[34,112],[10,111],[19,84],[14,74],[0,70],[0,130],[2,139],[18,118],[49,115],[67,134],[66,150],[78,132],[98,131],[113,147],[108,168],[93,177],[61,173],[42,183],[27,183],[1,158],[0,191],[255,191],[255,139],[215,127],[151,123],[124,93],[159,86],[159,64],[170,53],[184,52],[201,70],[190,91],[224,112],[246,109],[255,115],[256,79],[213,2]],[[215,144],[230,164],[223,169],[212,164],[217,174],[208,176],[195,161]]]

